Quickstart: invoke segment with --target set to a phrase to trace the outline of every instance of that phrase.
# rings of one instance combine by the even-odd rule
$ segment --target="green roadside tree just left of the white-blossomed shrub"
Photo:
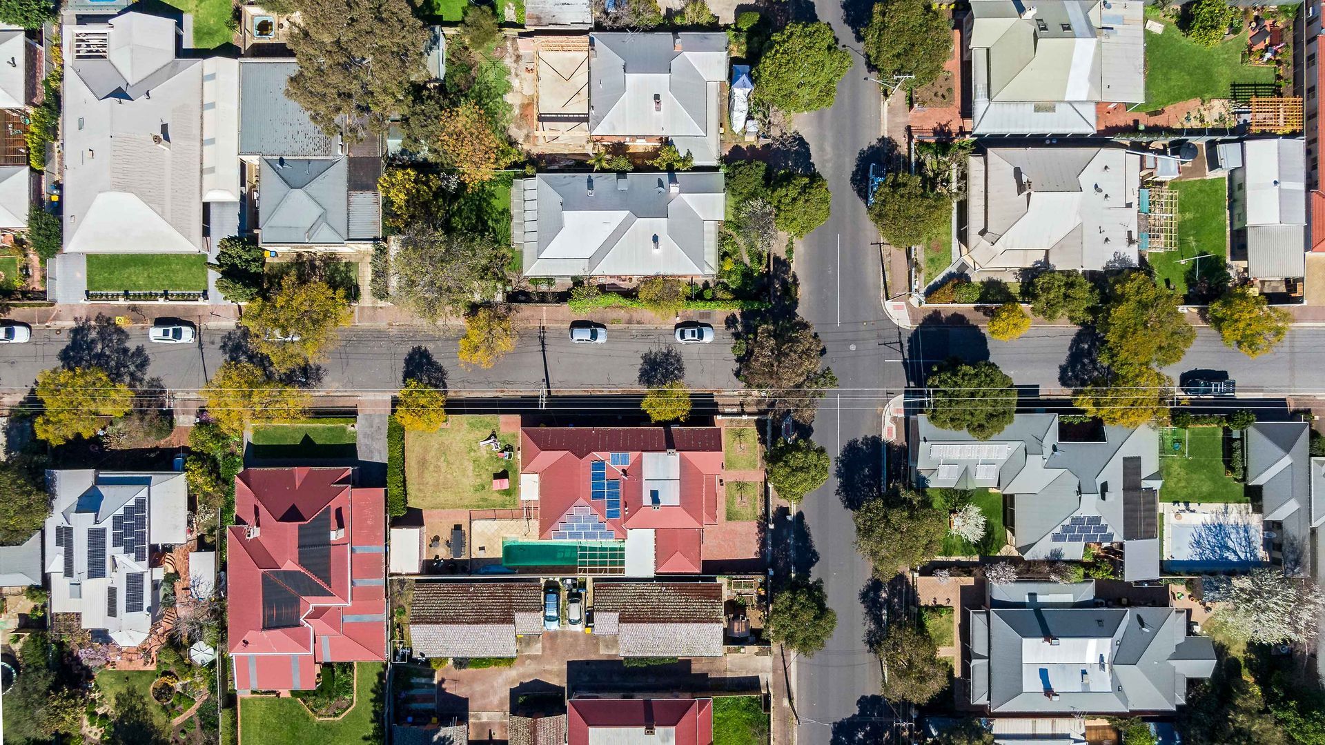
[[[937,557],[947,534],[947,512],[910,492],[867,500],[852,517],[856,550],[886,579]]]

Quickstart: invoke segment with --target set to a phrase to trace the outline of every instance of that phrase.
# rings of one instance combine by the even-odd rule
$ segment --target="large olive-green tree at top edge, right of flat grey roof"
[[[289,48],[299,64],[286,94],[327,135],[386,134],[423,73],[428,30],[405,0],[298,3]]]

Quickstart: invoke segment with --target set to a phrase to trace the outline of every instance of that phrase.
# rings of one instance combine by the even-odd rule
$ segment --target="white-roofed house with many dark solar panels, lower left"
[[[80,614],[94,638],[142,644],[162,614],[154,553],[188,540],[184,475],[48,471],[46,484],[50,610]]]

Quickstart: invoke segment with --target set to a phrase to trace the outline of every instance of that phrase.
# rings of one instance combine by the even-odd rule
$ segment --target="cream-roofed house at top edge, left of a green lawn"
[[[971,0],[965,57],[973,131],[1096,133],[1101,102],[1140,103],[1141,0]]]

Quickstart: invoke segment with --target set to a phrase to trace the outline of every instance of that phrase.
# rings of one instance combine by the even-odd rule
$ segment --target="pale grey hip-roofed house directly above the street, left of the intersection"
[[[529,277],[712,277],[722,174],[539,174],[511,190]]]

